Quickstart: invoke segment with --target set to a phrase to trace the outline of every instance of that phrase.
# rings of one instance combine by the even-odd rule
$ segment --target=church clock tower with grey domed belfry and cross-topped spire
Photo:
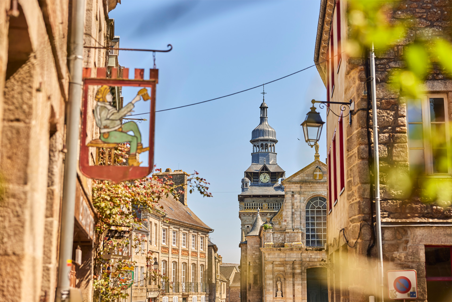
[[[265,96],[265,92],[262,94]],[[276,160],[278,139],[275,129],[268,125],[268,106],[265,98],[259,108],[260,122],[251,132],[251,165],[245,170],[241,193],[238,196],[241,221],[241,301],[258,301],[252,297],[261,297],[263,283],[258,233],[260,225],[270,221],[284,201],[284,187],[279,179],[285,176],[285,171],[278,166]],[[257,255],[259,257],[256,257]]]

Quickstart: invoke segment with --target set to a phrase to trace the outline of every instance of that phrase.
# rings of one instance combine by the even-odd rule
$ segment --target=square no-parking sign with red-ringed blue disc
[[[388,297],[391,300],[409,300],[418,297],[418,277],[414,269],[388,271]]]

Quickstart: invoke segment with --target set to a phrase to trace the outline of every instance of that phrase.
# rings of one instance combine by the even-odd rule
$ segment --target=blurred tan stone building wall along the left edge
[[[87,0],[85,45],[108,45],[118,0]],[[58,271],[71,1],[0,1],[0,300],[54,301]],[[90,36],[89,36],[90,35]],[[94,38],[93,38],[94,37]],[[104,49],[85,67],[105,66]],[[80,100],[81,101],[81,100]],[[94,119],[88,121],[94,125]],[[92,299],[91,181],[78,173],[71,286]],[[75,259],[73,259],[75,260]]]

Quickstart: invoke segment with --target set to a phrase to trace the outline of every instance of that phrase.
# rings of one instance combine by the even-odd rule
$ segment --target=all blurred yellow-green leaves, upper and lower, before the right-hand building
[[[347,1],[348,41],[345,51],[350,57],[362,57],[372,46],[378,53],[394,50],[400,54],[395,60],[400,64],[391,68],[388,84],[400,92],[400,103],[422,98],[423,82],[433,70],[439,70],[443,77],[452,75],[452,45],[450,31],[418,26],[428,22],[408,12],[406,1],[353,0]],[[397,15],[398,14],[398,15]],[[405,14],[401,16],[400,14]],[[399,18],[395,18],[399,17]],[[431,76],[430,76],[431,78]],[[431,107],[432,108],[432,107]],[[428,123],[428,121],[424,121]],[[452,123],[450,123],[452,125]],[[407,125],[408,126],[408,125]],[[413,127],[410,137],[420,138],[430,148],[450,144],[450,136],[424,133],[422,127]],[[450,129],[449,133],[452,133]],[[434,150],[433,150],[434,152]],[[447,171],[451,166],[450,152],[437,158],[433,165],[437,171]],[[433,156],[433,155],[432,155]],[[452,182],[450,179],[426,177],[424,159],[421,165],[381,163],[381,182],[387,184],[386,191],[392,198],[420,197],[424,202],[437,202],[450,206]],[[433,159],[432,159],[433,161]]]

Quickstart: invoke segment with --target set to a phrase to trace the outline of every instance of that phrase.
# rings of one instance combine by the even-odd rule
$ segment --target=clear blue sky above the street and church
[[[115,19],[122,48],[173,45],[170,53],[156,54],[160,69],[156,107],[162,110],[241,91],[312,65],[319,9],[320,1],[314,0],[122,0],[109,16]],[[124,51],[118,60],[131,75],[133,68],[153,66],[152,53]],[[251,131],[259,125],[260,92],[256,88],[156,113],[157,168],[196,170],[210,182],[213,197],[193,193],[188,206],[215,230],[211,239],[224,262],[240,262],[237,195],[251,163]],[[325,86],[312,67],[266,85],[265,92],[268,123],[279,140],[278,164],[290,176],[314,160],[314,149],[304,142],[300,124],[311,99],[326,101]],[[145,104],[137,103],[134,113],[147,112],[141,111]],[[326,120],[325,109],[319,110]],[[319,144],[325,162],[325,129]]]

